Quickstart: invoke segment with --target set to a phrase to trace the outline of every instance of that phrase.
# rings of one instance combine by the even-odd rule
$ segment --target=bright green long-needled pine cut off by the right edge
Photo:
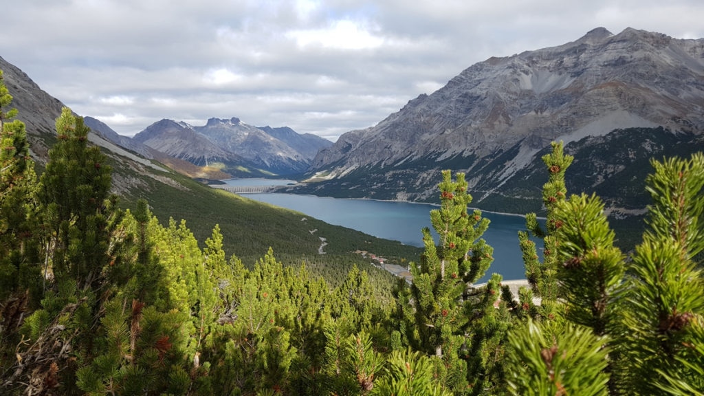
[[[675,383],[702,394],[704,279],[694,257],[704,250],[704,155],[652,164],[648,229],[633,254],[620,307],[622,390],[656,395]]]

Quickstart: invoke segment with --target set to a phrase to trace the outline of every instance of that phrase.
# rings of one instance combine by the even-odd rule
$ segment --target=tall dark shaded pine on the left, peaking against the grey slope
[[[58,142],[49,150],[37,189],[42,261],[49,282],[41,309],[23,326],[33,343],[18,349],[21,364],[14,374],[27,376],[28,393],[57,386],[67,394],[76,391],[77,367],[92,359],[99,343],[92,332],[109,295],[100,289],[106,286],[104,270],[112,259],[111,242],[116,242],[112,231],[122,214],[116,197],[108,193],[110,168],[99,148],[87,145],[89,128],[82,118],[63,109],[56,128]]]

